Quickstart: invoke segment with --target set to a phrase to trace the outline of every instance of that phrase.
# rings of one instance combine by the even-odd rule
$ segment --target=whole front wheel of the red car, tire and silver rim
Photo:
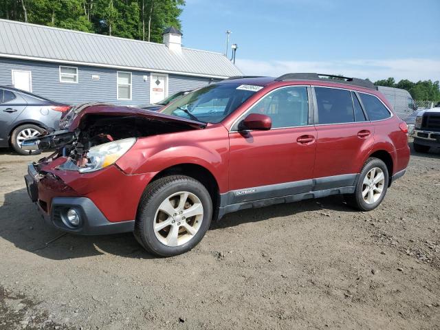
[[[171,175],[147,186],[134,234],[148,252],[175,256],[201,241],[211,217],[212,200],[205,186],[192,177]]]

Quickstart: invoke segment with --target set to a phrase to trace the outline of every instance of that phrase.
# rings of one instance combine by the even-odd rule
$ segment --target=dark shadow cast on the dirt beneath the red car
[[[342,197],[327,197],[226,214],[221,221],[212,223],[210,230],[221,230],[242,223],[266,221],[300,212],[325,212],[325,209],[352,211],[344,206]],[[17,248],[53,260],[100,254],[113,254],[125,258],[154,258],[137,243],[131,233],[79,236],[50,228],[30,201],[25,188],[5,194],[5,201],[0,207],[0,236]]]

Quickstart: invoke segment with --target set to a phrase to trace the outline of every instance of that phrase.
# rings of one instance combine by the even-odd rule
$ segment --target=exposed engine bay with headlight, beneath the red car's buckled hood
[[[57,131],[40,136],[37,143],[40,149],[57,149],[47,159],[41,159],[42,162],[48,158],[68,157],[60,168],[85,173],[113,164],[135,143],[137,137],[190,129],[195,127],[186,122],[170,122],[135,115],[91,114],[80,122],[75,131]],[[113,162],[110,163],[111,161]]]

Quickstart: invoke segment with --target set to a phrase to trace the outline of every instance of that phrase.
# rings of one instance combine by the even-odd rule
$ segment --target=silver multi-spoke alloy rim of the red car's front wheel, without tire
[[[164,245],[179,246],[190,241],[203,221],[203,206],[192,192],[170,195],[157,208],[153,230]]]

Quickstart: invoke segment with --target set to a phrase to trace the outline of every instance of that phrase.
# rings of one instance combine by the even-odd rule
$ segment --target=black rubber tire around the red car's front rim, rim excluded
[[[159,241],[155,235],[153,230],[155,215],[162,201],[180,191],[190,192],[199,198],[203,206],[203,217],[199,229],[190,241],[178,246],[168,246]],[[192,177],[170,175],[157,179],[146,187],[137,208],[134,234],[140,245],[148,252],[157,256],[176,256],[188,252],[203,239],[211,218],[212,200],[205,186]]]

